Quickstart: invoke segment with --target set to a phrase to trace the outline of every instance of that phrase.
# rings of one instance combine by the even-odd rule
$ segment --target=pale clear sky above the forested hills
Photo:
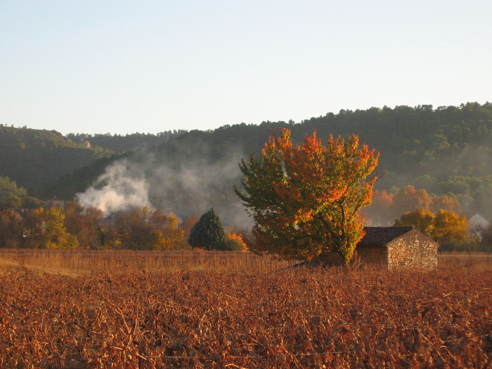
[[[0,123],[158,133],[492,101],[490,0],[1,0]]]

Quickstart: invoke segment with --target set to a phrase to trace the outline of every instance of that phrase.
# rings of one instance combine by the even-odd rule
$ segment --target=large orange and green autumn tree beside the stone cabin
[[[273,134],[258,159],[240,163],[244,191],[235,192],[255,221],[249,248],[347,263],[364,235],[361,208],[370,204],[378,157],[356,135],[323,145],[314,131],[293,146],[289,129]]]

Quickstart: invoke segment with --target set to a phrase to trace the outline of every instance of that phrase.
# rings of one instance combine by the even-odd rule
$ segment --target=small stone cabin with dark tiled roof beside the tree
[[[361,261],[388,269],[437,268],[439,244],[413,227],[364,227],[355,250]]]

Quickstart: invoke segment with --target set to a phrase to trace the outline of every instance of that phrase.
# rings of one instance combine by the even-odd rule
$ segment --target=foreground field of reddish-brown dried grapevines
[[[488,268],[6,267],[0,368],[491,368],[491,308]]]

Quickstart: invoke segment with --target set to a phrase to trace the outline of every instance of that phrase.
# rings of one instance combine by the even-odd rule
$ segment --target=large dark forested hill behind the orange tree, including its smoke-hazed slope
[[[227,219],[237,213],[234,204],[238,199],[232,187],[239,183],[239,160],[249,153],[258,154],[272,129],[278,133],[280,127],[291,129],[295,142],[314,129],[323,139],[330,134],[346,137],[355,133],[381,152],[377,172],[382,178],[377,189],[395,192],[413,185],[459,200],[467,214],[492,217],[490,103],[341,110],[301,123],[241,123],[213,131],[194,130],[125,155],[125,170],[131,178],[145,179],[150,201],[160,209],[189,215],[201,214],[213,205]],[[58,191],[65,197],[75,195],[102,169],[101,163],[83,168],[64,178]]]

